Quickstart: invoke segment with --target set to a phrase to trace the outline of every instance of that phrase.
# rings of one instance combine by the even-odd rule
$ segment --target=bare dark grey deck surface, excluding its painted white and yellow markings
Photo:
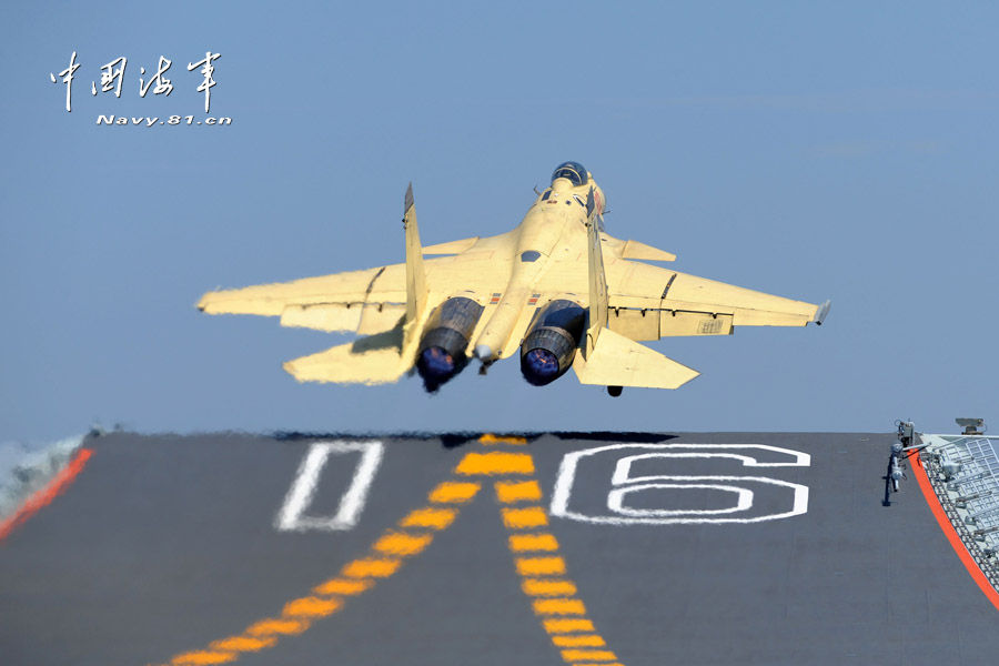
[[[321,437],[336,438],[343,437]],[[386,528],[426,504],[427,492],[462,456],[482,446],[456,437],[446,446],[440,437],[374,438],[384,443],[384,457],[356,525],[304,533],[278,531],[274,518],[314,438],[88,440],[93,456],[65,494],[0,543],[0,664],[164,663],[238,634],[362,557]],[[628,525],[551,517],[568,577],[620,664],[993,664],[999,612],[961,566],[915,481],[891,506],[881,504],[891,441],[869,434],[545,434],[521,448],[534,457],[545,506],[563,456],[573,451],[723,443],[811,456],[807,467],[676,458],[642,468],[800,484],[809,490],[804,515]],[[623,452],[635,453],[581,460],[571,511],[609,515],[610,474]],[[349,454],[330,458],[310,514],[332,513],[356,463]],[[746,515],[790,506],[781,486],[730,483],[755,492]],[[734,496],[659,488],[634,493],[627,504],[720,509]],[[497,501],[485,487],[396,574],[301,635],[235,663],[562,664],[519,585]]]

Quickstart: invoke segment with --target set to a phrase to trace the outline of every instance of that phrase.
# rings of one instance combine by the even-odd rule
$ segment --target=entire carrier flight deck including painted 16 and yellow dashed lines
[[[0,662],[995,663],[990,528],[976,575],[895,441],[89,436],[0,529]]]

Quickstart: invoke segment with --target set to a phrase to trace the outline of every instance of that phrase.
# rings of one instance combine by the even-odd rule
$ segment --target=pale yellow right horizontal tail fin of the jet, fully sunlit
[[[576,354],[573,370],[583,384],[679,389],[700,373],[645,345],[604,329],[588,359]]]

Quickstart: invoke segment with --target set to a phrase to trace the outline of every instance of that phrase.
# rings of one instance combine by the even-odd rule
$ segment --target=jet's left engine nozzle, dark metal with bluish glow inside
[[[428,392],[435,392],[468,363],[465,350],[482,310],[472,299],[452,296],[431,314],[416,354],[416,372]]]

